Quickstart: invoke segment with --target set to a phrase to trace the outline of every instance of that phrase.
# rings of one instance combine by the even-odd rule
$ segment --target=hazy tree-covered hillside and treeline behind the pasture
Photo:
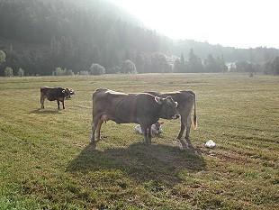
[[[0,28],[0,76],[279,74],[279,50],[173,41],[108,0],[0,0]]]

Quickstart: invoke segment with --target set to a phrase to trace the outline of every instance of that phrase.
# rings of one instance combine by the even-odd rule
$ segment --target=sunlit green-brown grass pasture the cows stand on
[[[40,87],[76,91],[66,109]],[[89,144],[92,93],[193,90],[193,149],[179,120],[143,143],[103,123]],[[0,78],[0,209],[279,209],[279,78],[234,74]],[[208,140],[216,148],[204,147]]]

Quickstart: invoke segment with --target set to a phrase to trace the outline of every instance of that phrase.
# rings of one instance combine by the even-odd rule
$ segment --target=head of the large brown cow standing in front
[[[155,101],[157,102],[157,104],[161,105],[160,117],[165,119],[179,118],[180,115],[176,110],[178,103],[175,102],[171,96],[167,96],[166,98],[155,96]]]

